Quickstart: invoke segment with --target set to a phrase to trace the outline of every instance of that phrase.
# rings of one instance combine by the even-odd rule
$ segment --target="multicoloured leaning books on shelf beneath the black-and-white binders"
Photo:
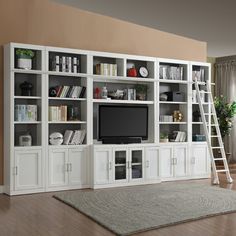
[[[86,87],[84,86],[56,86],[56,97],[60,98],[83,98]]]

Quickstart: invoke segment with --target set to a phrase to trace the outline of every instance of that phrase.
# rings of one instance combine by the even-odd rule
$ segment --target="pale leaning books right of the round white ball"
[[[63,137],[64,145],[80,145],[83,144],[86,130],[66,130]]]

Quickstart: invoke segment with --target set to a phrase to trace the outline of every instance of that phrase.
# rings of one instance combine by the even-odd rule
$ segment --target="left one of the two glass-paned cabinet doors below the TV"
[[[126,150],[115,150],[114,151],[114,162],[115,162],[115,181],[127,180],[127,151]]]

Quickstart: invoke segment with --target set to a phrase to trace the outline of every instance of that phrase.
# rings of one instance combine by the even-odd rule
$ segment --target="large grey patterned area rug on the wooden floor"
[[[236,211],[236,191],[195,183],[77,190],[54,197],[117,235]]]

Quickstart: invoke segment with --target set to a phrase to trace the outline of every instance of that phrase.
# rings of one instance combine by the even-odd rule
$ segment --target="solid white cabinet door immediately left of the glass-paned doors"
[[[94,184],[112,182],[112,149],[94,148]]]

